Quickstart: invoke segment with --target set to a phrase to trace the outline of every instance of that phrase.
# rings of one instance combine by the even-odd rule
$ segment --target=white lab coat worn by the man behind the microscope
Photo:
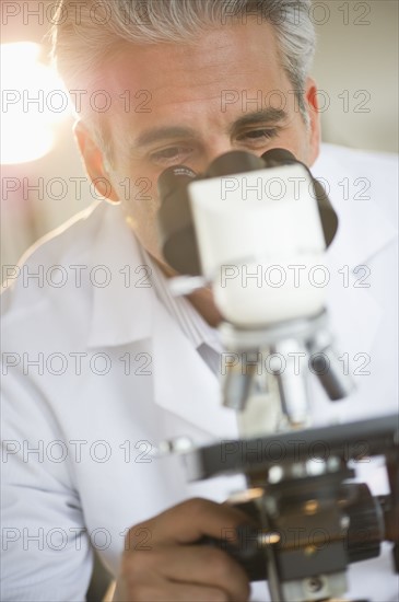
[[[329,252],[332,328],[342,352],[371,356],[371,373],[356,377],[348,401],[331,404],[315,385],[316,422],[396,412],[396,161],[326,147],[314,173],[329,181],[340,215]],[[344,177],[351,196],[364,186],[356,178],[369,180],[363,196],[372,198],[343,200]],[[67,270],[63,286],[54,285],[61,277],[55,265]],[[92,570],[87,534],[117,574],[129,526],[193,495],[222,501],[242,484],[223,477],[188,485],[179,459],[151,454],[175,436],[206,442],[237,433],[234,413],[220,406],[216,378],[140,265],[119,208],[103,202],[26,258],[22,275],[26,266],[43,269],[43,282],[20,277],[3,296],[4,601],[83,600]],[[353,273],[359,265],[371,269],[369,288],[353,286],[364,276]],[[344,266],[347,288],[347,273],[338,271]],[[369,472],[373,487],[384,488],[380,468]],[[151,534],[142,545],[151,545]],[[357,598],[397,597],[387,555],[351,567],[350,578]],[[265,586],[256,597],[267,599]]]

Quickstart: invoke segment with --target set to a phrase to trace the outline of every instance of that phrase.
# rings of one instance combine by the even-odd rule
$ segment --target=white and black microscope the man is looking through
[[[289,151],[233,151],[203,174],[178,165],[159,180],[166,261],[187,294],[211,286],[224,317],[223,403],[239,439],[187,449],[190,481],[244,473],[231,503],[248,514],[233,555],[274,602],[326,601],[348,590],[350,563],[392,543],[399,571],[398,416],[312,427],[309,380],[331,402],[353,390],[335,350],[318,286],[338,218],[310,171]],[[178,445],[177,445],[178,448]],[[354,481],[362,458],[385,458],[390,493]]]

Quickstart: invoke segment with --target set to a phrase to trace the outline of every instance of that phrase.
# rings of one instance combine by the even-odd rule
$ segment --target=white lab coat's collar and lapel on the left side
[[[112,282],[93,288],[87,346],[103,348],[151,339],[155,403],[208,435],[236,436],[235,414],[222,406],[216,377],[153,287],[138,287],[127,280],[129,266],[134,275],[145,262],[121,212],[108,206],[101,210],[92,264],[106,266]]]

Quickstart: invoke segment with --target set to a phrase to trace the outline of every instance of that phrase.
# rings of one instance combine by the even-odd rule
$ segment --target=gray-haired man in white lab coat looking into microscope
[[[91,541],[115,572],[116,600],[247,600],[239,565],[223,551],[193,545],[246,522],[216,503],[236,483],[189,487],[176,459],[152,456],[154,445],[179,435],[204,442],[237,433],[234,413],[219,406],[210,369],[221,351],[212,293],[201,289],[187,301],[167,291],[174,271],[156,233],[156,181],[175,164],[200,173],[232,149],[261,155],[283,147],[314,165],[320,131],[308,77],[309,2],[87,0],[79,19],[72,4],[60,3],[55,51],[69,89],[86,91],[79,95],[75,135],[90,177],[110,204],[85,212],[27,258],[30,274],[62,266],[62,287],[47,276],[21,281],[4,300],[3,599],[82,600]],[[259,90],[262,106],[254,108]],[[384,161],[373,161],[383,170]],[[327,177],[322,163],[318,169]],[[339,181],[330,182],[336,192]],[[395,231],[378,207],[362,207],[362,230],[353,208],[342,205],[343,235],[331,253],[336,267],[341,257],[340,267],[352,270],[386,251]],[[377,294],[390,302],[377,274]],[[336,279],[336,297],[344,299],[331,312],[335,326],[349,333],[343,349],[352,358],[383,339],[372,341],[376,301],[348,278],[350,288]],[[338,320],[342,306],[349,317]],[[385,405],[368,400],[361,415],[389,412],[392,387],[377,374],[342,415],[359,414],[367,406],[365,390],[373,396],[376,387],[384,389]],[[318,397],[315,410],[322,414],[327,402]],[[198,495],[215,501],[187,501]],[[378,571],[389,582],[384,600],[394,599],[389,567]],[[354,591],[369,594],[362,579]],[[380,588],[374,591],[378,600]],[[257,595],[266,599],[265,586]]]

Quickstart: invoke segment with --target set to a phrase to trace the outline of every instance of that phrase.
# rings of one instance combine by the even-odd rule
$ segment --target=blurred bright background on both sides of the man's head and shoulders
[[[1,2],[1,265],[95,198],[46,39],[55,0]],[[398,1],[314,1],[324,140],[398,151]],[[3,279],[3,278],[2,278]]]

